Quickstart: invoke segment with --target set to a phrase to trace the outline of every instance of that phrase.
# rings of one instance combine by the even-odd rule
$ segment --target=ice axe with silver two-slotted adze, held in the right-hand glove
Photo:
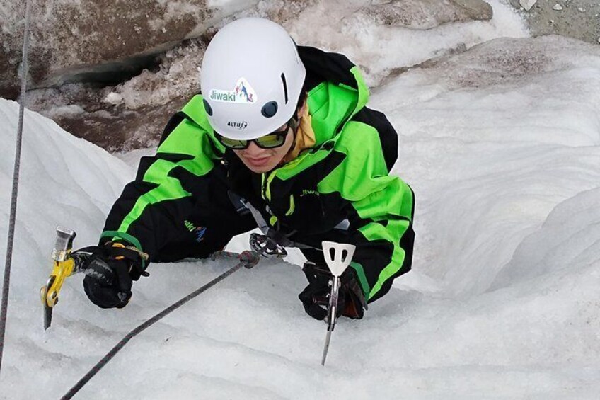
[[[331,292],[329,295],[329,307],[327,308],[327,316],[325,317],[325,323],[327,324],[327,336],[325,336],[325,346],[323,347],[323,358],[321,359],[321,365],[325,365],[325,359],[327,358],[327,352],[329,350],[329,342],[331,340],[331,333],[335,328],[335,322],[337,321],[337,297],[340,295],[340,276],[348,265],[352,261],[354,256],[354,250],[356,246],[353,244],[340,244],[333,241],[323,241],[323,257],[325,263],[333,275],[333,279],[330,280]]]

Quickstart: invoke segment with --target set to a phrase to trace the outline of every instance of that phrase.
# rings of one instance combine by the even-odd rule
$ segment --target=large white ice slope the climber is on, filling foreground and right
[[[299,266],[264,261],[144,331],[76,398],[597,399],[599,50],[493,40],[389,79],[371,105],[400,135],[393,173],[416,193],[415,262],[362,321],[339,321],[326,367],[325,325],[296,298]],[[0,100],[3,225],[17,116]],[[55,226],[94,243],[132,176],[26,114],[0,398],[58,398],[130,329],[230,265],[152,265],[122,310],[95,307],[74,276],[43,331]]]

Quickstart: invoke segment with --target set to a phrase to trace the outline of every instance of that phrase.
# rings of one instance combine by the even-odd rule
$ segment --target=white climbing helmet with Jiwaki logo
[[[214,35],[201,74],[210,125],[229,139],[249,140],[292,118],[306,69],[284,28],[263,18],[242,18]]]

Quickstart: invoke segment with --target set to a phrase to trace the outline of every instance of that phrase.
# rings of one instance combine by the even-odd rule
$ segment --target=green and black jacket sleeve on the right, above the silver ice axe
[[[375,127],[347,122],[334,147],[343,160],[318,184],[321,193],[335,193],[346,211],[350,242],[357,247],[350,266],[369,302],[410,270],[415,237],[412,189],[389,175],[393,163],[386,164],[382,142]]]

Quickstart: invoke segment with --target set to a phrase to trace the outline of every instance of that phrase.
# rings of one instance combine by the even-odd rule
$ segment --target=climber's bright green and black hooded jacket
[[[173,116],[156,155],[140,161],[103,238],[124,239],[150,261],[163,261],[162,249],[185,231],[195,207],[210,209],[202,199],[219,176],[289,239],[318,248],[322,240],[357,246],[351,266],[367,298],[388,292],[393,278],[410,270],[414,241],[412,190],[389,175],[398,135],[385,115],[365,106],[368,88],[346,57],[313,47],[299,47],[299,54],[313,148],[273,171],[252,173],[217,142],[197,95]],[[346,230],[335,228],[344,222]]]

